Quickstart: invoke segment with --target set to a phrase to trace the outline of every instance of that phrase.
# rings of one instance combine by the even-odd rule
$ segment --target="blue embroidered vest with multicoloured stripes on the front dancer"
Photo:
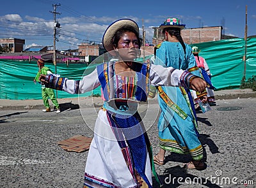
[[[115,62],[110,61],[97,66],[97,73],[102,89],[102,99],[132,99],[134,101],[147,101],[149,92],[150,63],[142,64],[136,76],[127,77],[115,75]]]

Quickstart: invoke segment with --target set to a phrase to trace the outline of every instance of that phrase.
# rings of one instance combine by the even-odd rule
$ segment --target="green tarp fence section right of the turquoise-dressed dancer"
[[[244,76],[244,39],[236,38],[193,45],[200,48],[199,55],[205,58],[212,74],[212,84],[218,90],[239,88]],[[256,75],[256,38],[249,38],[246,48],[246,80],[253,75]]]

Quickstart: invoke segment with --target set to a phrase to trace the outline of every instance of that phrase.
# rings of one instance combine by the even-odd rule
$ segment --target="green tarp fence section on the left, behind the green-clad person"
[[[45,63],[52,73],[55,66],[52,63]],[[83,74],[86,75],[95,69],[96,64],[86,66],[86,64],[57,64],[57,73],[68,79],[81,80]],[[42,99],[40,83],[33,82],[38,72],[36,61],[9,61],[0,60],[0,99]],[[55,91],[56,93],[56,91]],[[68,94],[58,90],[58,98],[77,98],[99,95],[100,88],[85,94]]]

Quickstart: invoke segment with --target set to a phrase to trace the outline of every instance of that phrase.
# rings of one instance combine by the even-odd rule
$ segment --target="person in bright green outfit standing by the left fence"
[[[47,68],[47,66],[44,66],[45,61],[44,59],[38,59],[37,60],[37,66],[39,68],[38,73],[36,74],[36,77],[34,78],[33,82],[40,82],[38,80],[39,76],[42,75],[49,75],[52,74],[51,69]],[[56,113],[60,113],[60,105],[58,103],[58,100],[55,97],[54,91],[51,88],[46,88],[44,84],[42,84],[42,99],[44,102],[45,109],[43,109],[43,112],[51,112],[50,104],[48,101],[48,98],[51,99],[52,104],[57,109]]]

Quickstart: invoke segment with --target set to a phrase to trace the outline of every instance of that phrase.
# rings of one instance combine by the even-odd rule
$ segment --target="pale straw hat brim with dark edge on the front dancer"
[[[115,36],[116,31],[122,29],[125,26],[133,27],[138,34],[140,33],[138,24],[136,24],[136,22],[133,20],[128,18],[116,20],[108,26],[102,38],[102,45],[107,52],[114,50],[113,37]]]

